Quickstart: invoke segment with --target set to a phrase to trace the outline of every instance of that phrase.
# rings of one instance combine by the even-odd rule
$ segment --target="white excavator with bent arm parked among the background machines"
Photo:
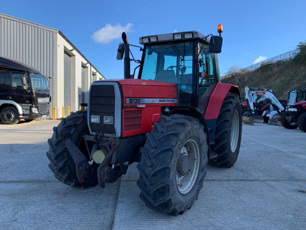
[[[270,109],[264,111],[262,116],[256,116],[255,114],[254,100],[256,100],[257,97],[254,97],[254,95],[264,96],[270,101]],[[255,120],[263,120],[264,122],[268,122],[268,120],[280,120],[281,114],[285,108],[278,100],[278,98],[274,95],[272,90],[252,88],[246,86],[244,90],[244,97],[248,105],[248,111],[244,113],[244,115],[246,116],[244,116],[244,119],[242,119],[245,124],[254,125],[254,118]]]

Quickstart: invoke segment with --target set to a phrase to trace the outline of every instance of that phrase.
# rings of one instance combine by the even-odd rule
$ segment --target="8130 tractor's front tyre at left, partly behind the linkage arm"
[[[57,127],[53,127],[53,135],[48,140],[49,151],[47,151],[47,157],[50,161],[50,170],[54,173],[56,179],[66,185],[72,187],[94,186],[98,183],[98,180],[94,184],[88,184],[86,181],[80,183],[78,181],[73,158],[58,134],[62,128],[65,128],[66,132],[71,133],[70,139],[89,161],[84,141],[84,135],[89,133],[87,111],[80,110],[76,113],[70,113],[68,117],[62,118],[61,123],[59,123]]]

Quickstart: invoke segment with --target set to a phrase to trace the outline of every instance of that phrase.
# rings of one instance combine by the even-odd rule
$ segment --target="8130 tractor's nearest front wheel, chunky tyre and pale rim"
[[[207,166],[207,134],[199,120],[163,116],[147,133],[140,151],[137,186],[145,204],[173,216],[190,209],[203,187]]]

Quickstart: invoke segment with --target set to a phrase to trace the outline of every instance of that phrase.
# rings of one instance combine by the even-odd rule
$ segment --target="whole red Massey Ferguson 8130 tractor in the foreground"
[[[93,82],[88,110],[71,113],[48,140],[49,167],[69,186],[101,188],[137,164],[140,198],[159,213],[190,209],[207,163],[232,167],[242,132],[240,94],[220,82],[219,36],[197,31],[140,37],[141,60],[130,59],[122,33],[124,79]],[[130,61],[139,74],[130,74]],[[217,191],[216,191],[217,193]]]

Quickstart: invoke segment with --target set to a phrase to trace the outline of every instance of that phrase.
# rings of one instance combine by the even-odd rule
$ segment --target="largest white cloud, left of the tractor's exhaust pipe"
[[[125,26],[121,26],[119,23],[117,25],[106,24],[103,28],[95,31],[91,35],[91,39],[97,43],[107,44],[111,40],[118,39],[121,37],[122,32],[131,32],[132,23],[128,23]]]

